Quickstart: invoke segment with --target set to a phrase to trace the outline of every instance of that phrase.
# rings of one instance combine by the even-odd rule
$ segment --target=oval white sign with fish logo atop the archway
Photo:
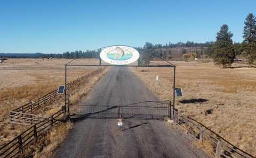
[[[127,46],[107,47],[100,52],[100,58],[109,64],[125,65],[136,62],[140,57],[139,52]]]

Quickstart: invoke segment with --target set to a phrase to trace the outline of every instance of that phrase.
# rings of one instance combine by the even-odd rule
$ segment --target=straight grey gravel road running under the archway
[[[113,67],[84,103],[122,105],[153,100],[157,98],[129,68]],[[204,157],[166,121],[123,122],[124,130],[119,131],[116,119],[77,121],[54,157]]]

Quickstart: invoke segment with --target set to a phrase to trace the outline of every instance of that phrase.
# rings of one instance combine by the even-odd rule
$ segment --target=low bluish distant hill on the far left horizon
[[[36,53],[1,53],[0,56],[4,58],[40,58],[44,57],[46,54],[41,52]]]

